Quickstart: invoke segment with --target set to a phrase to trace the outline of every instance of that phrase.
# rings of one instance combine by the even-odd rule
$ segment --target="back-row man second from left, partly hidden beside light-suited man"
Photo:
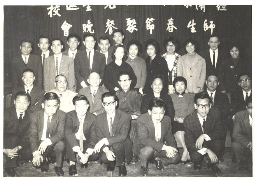
[[[42,67],[44,67],[44,59],[49,56],[53,56],[53,51],[49,51],[49,46],[51,44],[50,38],[44,35],[39,36],[37,46],[40,48],[41,52],[38,54],[42,60]]]

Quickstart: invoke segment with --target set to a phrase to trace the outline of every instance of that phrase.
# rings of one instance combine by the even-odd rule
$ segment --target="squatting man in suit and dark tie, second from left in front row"
[[[63,176],[63,157],[65,155],[64,126],[66,113],[58,110],[60,99],[56,93],[44,95],[44,108],[30,115],[29,142],[33,154],[33,166],[42,172],[49,170],[46,157],[56,156],[54,170]]]

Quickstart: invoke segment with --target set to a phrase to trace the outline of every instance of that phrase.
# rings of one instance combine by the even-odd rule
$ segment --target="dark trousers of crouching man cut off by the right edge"
[[[252,161],[252,152],[249,147],[245,148],[242,144],[238,143],[237,141],[233,141],[232,149],[235,153],[235,157],[237,158],[237,162],[240,163],[242,160],[244,161]]]

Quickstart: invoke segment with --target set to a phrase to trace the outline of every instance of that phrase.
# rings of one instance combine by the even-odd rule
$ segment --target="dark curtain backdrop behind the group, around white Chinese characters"
[[[165,52],[163,48],[163,40],[168,36],[177,37],[180,42],[192,37],[195,38],[200,45],[200,52],[209,48],[207,42],[210,35],[210,29],[203,30],[204,20],[214,21],[214,34],[220,38],[221,46],[227,50],[228,44],[235,40],[244,50],[245,58],[251,61],[252,52],[252,8],[251,5],[227,5],[226,11],[218,11],[216,5],[206,5],[205,12],[196,10],[195,5],[186,8],[184,5],[116,5],[115,9],[105,5],[91,5],[91,11],[86,12],[86,7],[77,5],[79,10],[67,10],[65,5],[60,6],[59,16],[50,17],[47,13],[49,6],[4,6],[4,82],[10,82],[9,79],[9,61],[14,56],[20,54],[19,45],[22,39],[32,40],[34,43],[33,54],[39,53],[37,47],[37,38],[40,35],[46,35],[50,38],[59,37],[63,40],[65,47],[67,45],[67,37],[61,30],[61,25],[66,20],[72,27],[69,33],[75,32],[81,37],[83,33],[82,24],[86,24],[88,19],[91,21],[92,30],[95,31],[97,39],[102,35],[107,35],[112,40],[109,31],[105,33],[107,19],[114,20],[115,27],[124,31],[126,45],[131,39],[139,40],[143,45],[149,38],[158,40],[161,46],[161,53]],[[150,34],[150,30],[146,30],[146,19],[153,17],[154,30]],[[166,31],[168,19],[174,19],[174,26],[177,30],[173,32]],[[136,28],[138,31],[130,33],[126,28],[126,18],[136,20]],[[189,21],[194,19],[196,25],[196,33],[191,33],[191,29],[187,28]],[[113,40],[112,40],[113,41]],[[80,43],[80,50],[85,47]],[[179,54],[185,54],[184,49],[178,51]],[[147,54],[144,47],[142,58],[146,58]]]

